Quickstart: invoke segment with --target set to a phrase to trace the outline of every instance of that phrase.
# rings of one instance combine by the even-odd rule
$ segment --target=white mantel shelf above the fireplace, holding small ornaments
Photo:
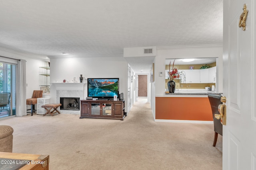
[[[50,83],[56,90],[84,90],[86,83]]]

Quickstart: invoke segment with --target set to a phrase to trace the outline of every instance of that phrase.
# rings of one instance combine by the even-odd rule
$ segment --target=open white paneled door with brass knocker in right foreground
[[[223,96],[226,96],[226,126],[223,126],[223,170],[256,170],[256,4],[254,0],[224,0]],[[238,27],[243,5],[246,30]]]

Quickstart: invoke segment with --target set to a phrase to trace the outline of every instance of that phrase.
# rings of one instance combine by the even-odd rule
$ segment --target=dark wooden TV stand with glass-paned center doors
[[[124,100],[80,100],[82,118],[124,120]]]

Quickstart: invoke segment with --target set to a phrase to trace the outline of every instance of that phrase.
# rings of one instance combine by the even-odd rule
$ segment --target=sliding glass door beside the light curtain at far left
[[[0,63],[0,118],[16,115],[16,68]]]

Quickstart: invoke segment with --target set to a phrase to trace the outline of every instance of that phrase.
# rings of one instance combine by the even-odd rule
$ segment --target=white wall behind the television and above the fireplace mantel
[[[124,100],[127,101],[128,63],[123,57],[50,58],[50,66],[50,82],[62,82],[64,79],[72,82],[74,77],[79,82],[80,74],[86,79],[119,78],[119,93],[124,93]],[[87,97],[87,85],[84,96]],[[52,88],[51,103],[56,103]]]

